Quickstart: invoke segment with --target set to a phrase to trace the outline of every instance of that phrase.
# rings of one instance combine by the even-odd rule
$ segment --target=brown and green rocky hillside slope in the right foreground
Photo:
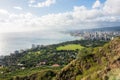
[[[64,67],[56,80],[119,80],[120,37],[103,47],[81,51],[78,58]]]

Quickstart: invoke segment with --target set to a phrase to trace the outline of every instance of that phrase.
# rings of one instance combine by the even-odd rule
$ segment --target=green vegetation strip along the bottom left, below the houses
[[[56,73],[62,67],[35,67],[35,68],[27,68],[24,70],[16,70],[9,72],[9,69],[4,71],[4,74],[0,73],[0,80],[50,80],[51,78],[55,77]],[[0,70],[3,71],[3,70]]]

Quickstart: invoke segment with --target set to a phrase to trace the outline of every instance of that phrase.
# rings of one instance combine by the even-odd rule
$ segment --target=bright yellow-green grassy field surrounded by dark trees
[[[83,49],[84,47],[79,45],[79,44],[68,44],[68,45],[65,45],[65,46],[59,46],[57,47],[56,49],[57,50],[81,50]]]

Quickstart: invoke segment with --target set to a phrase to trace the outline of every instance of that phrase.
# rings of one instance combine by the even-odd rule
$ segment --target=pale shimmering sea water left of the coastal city
[[[31,48],[32,44],[48,45],[74,39],[69,34],[60,32],[0,33],[0,55],[9,55],[15,50]]]

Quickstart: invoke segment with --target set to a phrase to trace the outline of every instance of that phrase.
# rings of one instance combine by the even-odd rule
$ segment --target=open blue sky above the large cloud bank
[[[29,7],[30,0],[3,0],[0,1],[0,8],[6,9],[9,12],[15,13],[25,13],[31,12],[35,15],[42,16],[51,13],[62,13],[67,11],[72,11],[74,6],[86,6],[87,8],[91,9],[93,3],[96,0],[56,0],[55,4],[52,4],[49,7],[42,7],[42,8],[34,8]],[[36,0],[34,4],[38,2],[44,2],[45,0]],[[104,3],[105,0],[100,0],[101,3]],[[18,6],[21,7],[23,10],[16,10],[13,7]]]

